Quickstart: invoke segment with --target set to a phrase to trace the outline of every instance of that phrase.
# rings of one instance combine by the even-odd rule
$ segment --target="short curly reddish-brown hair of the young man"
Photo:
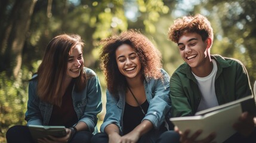
[[[207,38],[211,38],[213,41],[213,32],[211,23],[206,17],[201,14],[196,14],[192,16],[184,16],[174,20],[174,24],[169,27],[168,38],[178,43],[178,39],[185,33],[198,33],[202,37],[202,41]]]

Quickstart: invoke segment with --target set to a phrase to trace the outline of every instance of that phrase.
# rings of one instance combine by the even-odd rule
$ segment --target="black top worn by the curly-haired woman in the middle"
[[[149,102],[146,100],[143,104],[141,104],[141,107],[145,113],[147,113]],[[125,110],[123,116],[124,135],[131,132],[136,126],[138,126],[144,117],[145,115],[141,111],[140,106],[134,107],[125,102]]]

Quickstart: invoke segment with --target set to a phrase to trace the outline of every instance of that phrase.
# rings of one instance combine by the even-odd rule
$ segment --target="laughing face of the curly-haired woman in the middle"
[[[141,77],[141,63],[134,49],[128,44],[122,44],[116,49],[116,63],[121,74],[127,79]]]

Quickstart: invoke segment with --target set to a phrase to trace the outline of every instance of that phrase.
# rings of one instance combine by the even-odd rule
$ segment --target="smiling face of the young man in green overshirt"
[[[198,33],[185,33],[178,40],[180,55],[192,70],[208,64],[210,47],[211,38],[202,41]]]

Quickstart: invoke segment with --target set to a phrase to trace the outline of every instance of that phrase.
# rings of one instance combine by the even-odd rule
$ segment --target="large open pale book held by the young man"
[[[232,126],[235,122],[238,122],[240,115],[245,111],[256,116],[253,96],[199,111],[195,116],[173,117],[170,120],[181,132],[190,129],[189,135],[202,129],[203,132],[198,136],[198,140],[204,139],[210,133],[215,132],[216,138],[214,141],[218,143],[225,141],[236,133]]]

